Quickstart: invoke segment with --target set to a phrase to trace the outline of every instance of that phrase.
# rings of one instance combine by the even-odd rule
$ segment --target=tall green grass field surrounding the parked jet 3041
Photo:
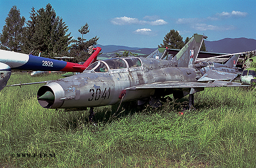
[[[60,78],[12,74],[8,84]],[[207,88],[195,94],[195,109],[178,113],[181,101],[159,109],[44,109],[36,99],[42,84],[0,92],[0,167],[3,168],[253,168],[256,165],[256,91]],[[127,106],[127,105],[126,105]]]

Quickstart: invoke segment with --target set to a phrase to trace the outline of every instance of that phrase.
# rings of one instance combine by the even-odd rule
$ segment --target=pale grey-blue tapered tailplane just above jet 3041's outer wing
[[[233,81],[238,74],[236,73],[227,73],[218,70],[208,70],[198,81],[215,81],[215,80],[225,80]]]

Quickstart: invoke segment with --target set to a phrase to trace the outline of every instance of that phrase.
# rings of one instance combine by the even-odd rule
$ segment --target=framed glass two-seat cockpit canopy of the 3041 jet
[[[113,58],[100,60],[87,67],[83,73],[100,72],[128,72],[128,70],[142,70],[142,63],[139,58]]]

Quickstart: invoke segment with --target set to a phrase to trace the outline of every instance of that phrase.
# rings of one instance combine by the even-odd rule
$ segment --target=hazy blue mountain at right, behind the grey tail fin
[[[240,53],[256,49],[256,40],[247,38],[225,38],[218,41],[204,41],[208,52]]]

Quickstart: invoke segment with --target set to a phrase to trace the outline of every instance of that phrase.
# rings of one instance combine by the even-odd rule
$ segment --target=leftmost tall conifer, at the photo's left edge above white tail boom
[[[5,22],[0,34],[1,49],[21,52],[25,17],[20,17],[20,10],[17,6],[12,6]]]

